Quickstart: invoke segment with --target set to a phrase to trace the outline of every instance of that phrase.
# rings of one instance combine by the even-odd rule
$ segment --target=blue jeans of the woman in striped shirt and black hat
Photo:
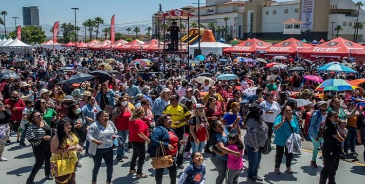
[[[257,152],[255,151],[254,147],[245,145],[247,149],[247,157],[248,157],[248,175],[247,178],[254,179],[257,176],[258,172],[258,165],[261,162],[261,148],[258,149]]]

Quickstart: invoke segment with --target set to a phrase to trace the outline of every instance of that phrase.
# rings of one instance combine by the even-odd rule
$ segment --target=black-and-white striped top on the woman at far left
[[[45,140],[44,136],[52,136],[52,129],[44,122],[44,126],[40,127],[37,124],[30,124],[27,129],[26,138],[32,146],[42,146],[51,142],[51,139]]]

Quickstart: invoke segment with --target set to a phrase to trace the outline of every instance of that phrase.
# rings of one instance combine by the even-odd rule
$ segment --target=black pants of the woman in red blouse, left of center
[[[146,158],[146,143],[145,142],[130,142],[133,148],[133,156],[130,160],[129,170],[134,170],[138,158],[137,174],[142,174],[142,167]]]

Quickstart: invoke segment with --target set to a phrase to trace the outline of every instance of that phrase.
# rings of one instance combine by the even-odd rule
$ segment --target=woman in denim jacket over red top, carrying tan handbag
[[[161,149],[161,144],[165,149],[167,155],[176,155],[178,152],[178,144],[183,145],[184,141],[180,140],[171,127],[171,116],[169,114],[163,114],[156,122],[156,128],[152,131],[151,143],[148,148],[150,157],[162,156],[162,151],[159,155],[156,153],[156,149]],[[176,165],[173,162],[172,166],[166,168],[169,171],[170,184],[176,184]],[[156,184],[162,184],[162,176],[164,174],[164,168],[155,169],[155,181]]]

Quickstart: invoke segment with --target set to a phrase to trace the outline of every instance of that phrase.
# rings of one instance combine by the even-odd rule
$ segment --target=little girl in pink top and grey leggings
[[[243,143],[237,133],[231,133],[228,135],[228,144],[228,149],[239,152],[241,155],[237,157],[236,155],[228,154],[226,184],[237,184],[238,176],[243,169]]]

